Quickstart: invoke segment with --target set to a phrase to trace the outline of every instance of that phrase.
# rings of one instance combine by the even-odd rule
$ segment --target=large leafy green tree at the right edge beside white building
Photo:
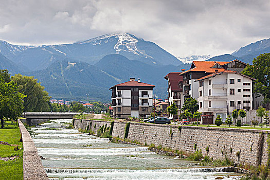
[[[254,93],[257,97],[262,94],[264,103],[268,103],[270,100],[270,53],[254,58],[253,65],[247,64],[242,74],[256,79]]]

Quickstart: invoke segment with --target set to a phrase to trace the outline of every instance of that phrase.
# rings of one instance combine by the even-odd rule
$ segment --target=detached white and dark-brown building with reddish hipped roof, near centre
[[[114,118],[147,118],[152,112],[153,88],[155,85],[135,81],[117,84],[112,91],[112,108]]]

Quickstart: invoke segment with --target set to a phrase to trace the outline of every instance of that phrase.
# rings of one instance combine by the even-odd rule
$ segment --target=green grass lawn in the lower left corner
[[[0,129],[0,141],[18,145],[20,149],[23,147],[20,139],[21,132],[17,125],[9,122],[8,126]],[[0,179],[23,179],[23,149],[15,151],[14,146],[0,145],[0,157],[11,156],[19,156],[19,158],[9,161],[0,160]]]

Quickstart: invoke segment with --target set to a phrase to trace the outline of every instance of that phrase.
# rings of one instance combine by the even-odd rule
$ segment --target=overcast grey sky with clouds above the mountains
[[[114,32],[176,57],[221,55],[270,38],[270,1],[0,0],[0,39],[62,44]]]

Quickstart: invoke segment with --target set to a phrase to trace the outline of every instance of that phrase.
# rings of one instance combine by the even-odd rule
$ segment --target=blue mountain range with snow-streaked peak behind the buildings
[[[156,97],[167,97],[171,71],[188,69],[192,61],[230,61],[246,63],[260,53],[269,52],[270,40],[252,43],[231,55],[210,58],[176,58],[153,42],[129,33],[106,34],[86,41],[60,45],[20,46],[0,41],[0,69],[11,75],[34,76],[53,98],[109,101],[109,88],[130,77],[156,85]],[[210,58],[210,59],[209,59]]]

